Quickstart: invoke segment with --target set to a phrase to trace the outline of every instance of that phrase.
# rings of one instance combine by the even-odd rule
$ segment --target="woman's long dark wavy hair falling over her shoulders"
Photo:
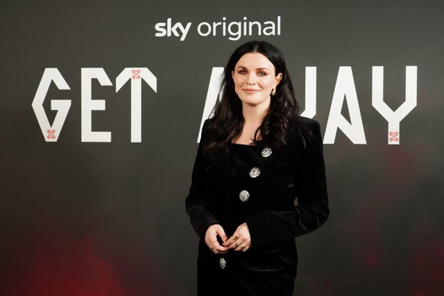
[[[289,125],[297,125],[299,105],[296,101],[284,56],[268,42],[251,41],[239,46],[232,53],[228,64],[225,66],[218,100],[213,109],[214,116],[207,123],[204,130],[203,150],[205,152],[226,148],[228,143],[234,137],[237,137],[244,127],[242,103],[234,92],[232,71],[234,71],[234,67],[240,58],[246,53],[262,53],[274,65],[274,75],[282,73],[282,80],[276,87],[276,93],[271,97],[268,114],[257,128],[253,142],[257,144],[259,140],[262,140],[268,145],[278,147],[285,145],[287,143],[285,136]],[[262,139],[257,139],[258,134]]]

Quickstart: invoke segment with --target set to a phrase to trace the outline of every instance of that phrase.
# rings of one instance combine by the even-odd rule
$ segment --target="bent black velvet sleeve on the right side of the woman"
[[[321,130],[310,120],[313,136],[305,141],[295,175],[298,203],[291,211],[265,211],[246,219],[253,247],[296,238],[321,227],[330,215]],[[302,152],[300,152],[302,151]]]

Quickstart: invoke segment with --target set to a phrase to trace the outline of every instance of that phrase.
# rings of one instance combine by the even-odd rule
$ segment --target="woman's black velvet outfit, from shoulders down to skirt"
[[[198,295],[292,295],[294,238],[320,227],[330,214],[319,125],[302,117],[299,122],[312,136],[303,139],[290,129],[287,146],[280,148],[230,144],[203,153],[200,141],[185,202],[200,238]],[[264,148],[271,155],[264,156]],[[253,167],[259,168],[257,177],[249,175]],[[246,201],[239,200],[242,190],[249,193]],[[214,254],[205,244],[210,225],[220,224],[230,236],[244,222],[251,237],[246,252]]]

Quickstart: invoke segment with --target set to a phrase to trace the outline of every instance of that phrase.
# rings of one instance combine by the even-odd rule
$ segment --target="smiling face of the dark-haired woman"
[[[246,53],[232,71],[234,91],[243,105],[268,107],[270,93],[282,79],[274,65],[262,53]]]

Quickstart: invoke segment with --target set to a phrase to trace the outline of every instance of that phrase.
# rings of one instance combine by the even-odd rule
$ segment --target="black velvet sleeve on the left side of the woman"
[[[205,130],[205,124],[202,130]],[[212,224],[218,224],[219,221],[210,211],[208,195],[205,194],[205,157],[202,142],[201,140],[199,143],[193,173],[191,174],[191,186],[185,200],[185,211],[190,218],[194,231],[202,241],[205,241],[205,233],[208,227]]]

